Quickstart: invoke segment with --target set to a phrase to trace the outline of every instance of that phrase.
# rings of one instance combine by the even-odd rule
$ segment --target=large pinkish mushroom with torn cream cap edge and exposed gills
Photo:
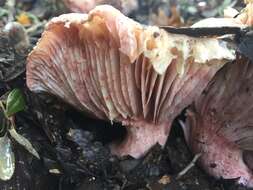
[[[235,58],[225,45],[144,26],[101,5],[47,24],[27,59],[27,86],[121,122],[127,136],[112,152],[138,158],[165,144],[174,118]]]

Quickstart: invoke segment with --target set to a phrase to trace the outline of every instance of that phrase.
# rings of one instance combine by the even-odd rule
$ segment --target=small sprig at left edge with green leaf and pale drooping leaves
[[[12,178],[15,171],[15,155],[12,150],[10,137],[24,146],[35,157],[39,154],[25,137],[16,131],[14,115],[23,111],[25,102],[19,89],[12,90],[7,99],[0,97],[0,180],[6,181]]]

